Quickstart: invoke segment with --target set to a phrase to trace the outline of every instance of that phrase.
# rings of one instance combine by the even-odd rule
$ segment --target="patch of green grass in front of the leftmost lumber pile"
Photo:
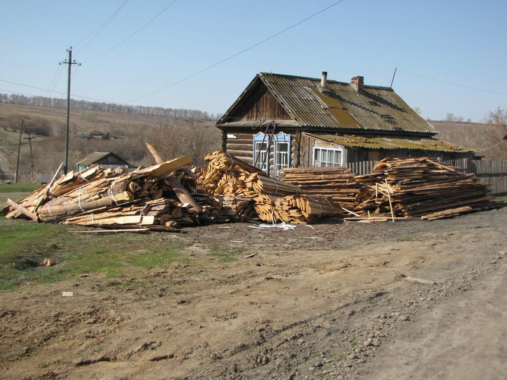
[[[188,260],[178,257],[176,247],[166,241],[154,247],[146,235],[75,236],[67,233],[69,229],[75,226],[0,217],[0,290],[23,282],[58,282],[70,274],[113,277]],[[44,267],[45,258],[58,266]]]

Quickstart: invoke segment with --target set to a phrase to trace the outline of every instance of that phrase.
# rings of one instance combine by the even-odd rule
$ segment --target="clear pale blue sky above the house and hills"
[[[65,57],[85,62],[120,43],[172,0],[129,0],[83,51],[76,45],[123,0],[0,0],[0,79],[47,89]],[[83,64],[71,94],[126,103],[219,62],[335,3],[176,0],[110,53]],[[365,84],[390,84],[394,67],[442,81],[507,92],[505,1],[344,0],[273,39],[133,104],[225,112],[259,71]],[[73,68],[74,69],[74,68]],[[0,82],[0,89],[45,91]],[[447,112],[479,120],[507,95],[398,72],[393,89],[423,117]],[[66,72],[55,91],[65,92]],[[3,91],[5,92],[5,91]],[[61,96],[61,95],[59,95]]]

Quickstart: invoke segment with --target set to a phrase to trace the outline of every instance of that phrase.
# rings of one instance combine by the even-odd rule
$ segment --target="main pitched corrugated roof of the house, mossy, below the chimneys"
[[[328,80],[332,95],[318,91],[320,79],[261,72],[229,108],[227,119],[248,89],[260,79],[299,127],[438,133],[391,88],[368,86],[356,92],[349,83]]]

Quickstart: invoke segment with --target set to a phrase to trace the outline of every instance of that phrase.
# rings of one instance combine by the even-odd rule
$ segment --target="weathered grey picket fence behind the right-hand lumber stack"
[[[469,160],[446,161],[447,164],[462,168],[464,173],[476,173],[480,182],[491,183],[491,194],[507,194],[507,160]],[[359,161],[347,164],[352,173],[370,174],[378,161]]]

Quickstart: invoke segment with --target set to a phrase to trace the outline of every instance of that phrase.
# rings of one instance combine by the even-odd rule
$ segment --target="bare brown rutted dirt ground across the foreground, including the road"
[[[0,378],[505,378],[505,220],[152,234],[183,268],[2,293]]]

